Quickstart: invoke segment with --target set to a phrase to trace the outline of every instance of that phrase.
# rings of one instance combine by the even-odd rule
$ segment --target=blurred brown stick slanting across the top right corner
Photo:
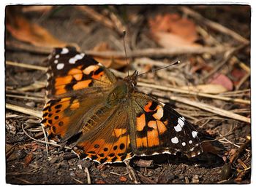
[[[181,11],[186,13],[187,15],[190,15],[191,17],[195,18],[196,20],[200,21],[200,23],[203,23],[204,25],[208,25],[209,27],[220,31],[222,33],[225,33],[229,36],[232,36],[234,39],[241,41],[244,44],[249,44],[249,40],[245,39],[243,36],[239,35],[238,33],[231,31],[229,28],[226,28],[223,25],[220,25],[219,23],[215,23],[214,21],[208,20],[199,13],[195,12],[192,9],[189,9],[188,7],[181,7]]]

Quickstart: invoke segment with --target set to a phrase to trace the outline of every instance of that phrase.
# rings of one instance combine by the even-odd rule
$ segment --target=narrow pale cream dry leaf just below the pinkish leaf
[[[223,87],[221,84],[200,84],[196,86],[184,86],[181,87],[181,89],[208,94],[219,94],[227,92],[227,89]]]

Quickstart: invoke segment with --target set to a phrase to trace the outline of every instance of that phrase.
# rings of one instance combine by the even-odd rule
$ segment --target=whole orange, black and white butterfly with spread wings
[[[47,103],[41,124],[48,138],[75,138],[74,151],[99,163],[134,156],[202,153],[197,131],[184,116],[136,89],[138,71],[117,78],[97,60],[74,47],[56,48],[48,57]]]

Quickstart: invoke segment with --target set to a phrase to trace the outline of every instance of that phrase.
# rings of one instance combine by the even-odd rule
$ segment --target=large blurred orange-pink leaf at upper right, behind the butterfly
[[[195,23],[177,14],[157,15],[148,21],[151,34],[162,47],[198,47]]]

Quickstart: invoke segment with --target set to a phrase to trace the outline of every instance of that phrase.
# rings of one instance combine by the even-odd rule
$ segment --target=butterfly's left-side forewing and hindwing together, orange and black
[[[48,102],[41,123],[50,128],[50,138],[67,140],[102,107],[116,76],[72,47],[56,48],[48,63]]]

